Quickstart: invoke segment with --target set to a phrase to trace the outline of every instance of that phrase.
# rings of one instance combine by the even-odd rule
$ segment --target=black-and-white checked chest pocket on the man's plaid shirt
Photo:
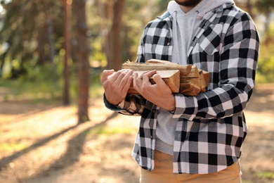
[[[212,25],[205,30],[199,39],[199,51],[208,56],[221,51],[221,34],[223,25]]]

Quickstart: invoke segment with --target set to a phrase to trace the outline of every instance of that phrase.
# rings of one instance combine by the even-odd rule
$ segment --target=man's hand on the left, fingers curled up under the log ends
[[[117,105],[124,101],[131,86],[132,70],[103,70],[101,83],[105,89],[105,98],[109,103]]]

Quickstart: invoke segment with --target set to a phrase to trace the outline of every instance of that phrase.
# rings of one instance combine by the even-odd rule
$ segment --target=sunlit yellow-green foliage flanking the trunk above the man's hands
[[[164,0],[128,0],[125,2],[122,18],[122,63],[127,60],[136,60],[143,28],[150,20],[166,11],[168,3],[169,1]],[[110,23],[107,22],[109,20],[106,20],[107,13],[101,12],[95,1],[93,1],[93,4],[89,4],[89,8],[95,10],[87,11],[88,23],[91,29],[91,58],[104,64],[106,56],[103,50],[103,36],[107,33]]]

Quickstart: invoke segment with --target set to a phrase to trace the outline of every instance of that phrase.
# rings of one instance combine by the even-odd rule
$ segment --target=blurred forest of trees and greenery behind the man
[[[125,61],[136,60],[143,28],[164,13],[168,3],[1,0],[0,106],[7,108],[11,102],[34,107],[58,103],[77,108],[77,124],[96,123],[89,110],[102,97],[101,72],[105,68],[119,70]],[[256,83],[273,83],[274,1],[235,3],[252,16],[259,30],[261,50]],[[5,132],[1,127],[5,122],[0,121],[1,134]],[[27,146],[2,140],[0,152],[12,154]],[[0,175],[3,162],[0,160]],[[274,179],[273,174],[270,176]]]

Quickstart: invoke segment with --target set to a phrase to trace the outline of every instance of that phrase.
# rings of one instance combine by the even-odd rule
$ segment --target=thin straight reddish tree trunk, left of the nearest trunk
[[[63,0],[65,10],[64,32],[65,32],[65,58],[64,58],[64,90],[63,90],[63,103],[64,105],[70,104],[70,68],[68,61],[71,59],[71,13],[72,13],[72,0]]]

